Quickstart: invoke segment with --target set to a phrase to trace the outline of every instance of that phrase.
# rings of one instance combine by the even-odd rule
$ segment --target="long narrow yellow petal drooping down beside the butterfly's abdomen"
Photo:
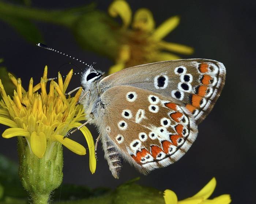
[[[78,127],[82,125],[80,122],[75,122],[72,127]],[[89,166],[90,166],[90,171],[91,173],[95,173],[96,170],[96,157],[95,157],[95,146],[94,146],[94,140],[93,136],[91,135],[90,130],[86,126],[83,126],[80,131],[83,133],[87,145],[89,147]]]

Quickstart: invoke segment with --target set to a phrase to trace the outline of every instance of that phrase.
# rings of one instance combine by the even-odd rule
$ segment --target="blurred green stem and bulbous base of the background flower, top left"
[[[36,9],[0,1],[0,19],[8,17],[59,24],[72,30],[79,45],[98,54],[115,59],[120,48],[118,24],[94,4],[71,9]]]

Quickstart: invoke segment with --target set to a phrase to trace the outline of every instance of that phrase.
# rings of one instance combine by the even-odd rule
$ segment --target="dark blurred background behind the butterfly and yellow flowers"
[[[70,8],[93,1],[33,1],[33,7],[53,9]],[[94,1],[107,11],[112,1]],[[186,44],[195,53],[185,58],[218,60],[226,66],[226,85],[214,109],[199,125],[197,140],[178,162],[154,170],[148,176],[140,175],[124,164],[119,180],[112,177],[102,149],[98,148],[95,174],[89,170],[89,157],[78,156],[64,148],[64,183],[89,187],[114,188],[124,181],[140,176],[142,185],[160,190],[172,189],[178,199],[192,196],[212,177],[217,179],[214,196],[230,194],[232,203],[256,203],[255,198],[255,8],[256,1],[128,1],[132,11],[149,8],[157,26],[173,15],[180,15],[180,25],[165,38],[168,42]],[[108,70],[109,59],[84,51],[67,28],[36,23],[45,42],[87,63],[97,62],[96,68]],[[28,86],[33,76],[38,81],[47,64],[48,76],[56,76],[61,64],[69,59],[27,43],[8,24],[0,21],[0,58],[8,71],[22,78]],[[97,42],[95,42],[97,43]],[[253,57],[254,56],[254,57]],[[72,66],[61,68],[67,73]],[[76,70],[76,68],[74,67]],[[79,79],[74,80],[79,81]],[[79,82],[69,86],[77,87]],[[87,126],[93,137],[98,136],[93,126]],[[5,127],[0,126],[0,133]],[[85,144],[81,133],[71,136]],[[0,153],[18,161],[16,138],[0,138]]]

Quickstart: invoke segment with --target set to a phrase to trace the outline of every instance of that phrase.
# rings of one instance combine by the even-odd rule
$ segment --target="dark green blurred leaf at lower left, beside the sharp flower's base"
[[[26,198],[27,192],[18,177],[18,165],[0,154],[0,183],[4,188],[4,197]]]

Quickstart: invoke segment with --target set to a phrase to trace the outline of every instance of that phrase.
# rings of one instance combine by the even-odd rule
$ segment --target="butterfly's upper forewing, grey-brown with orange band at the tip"
[[[226,69],[215,60],[182,59],[130,67],[101,80],[102,91],[128,85],[153,91],[186,107],[200,123],[210,113],[225,83]]]

